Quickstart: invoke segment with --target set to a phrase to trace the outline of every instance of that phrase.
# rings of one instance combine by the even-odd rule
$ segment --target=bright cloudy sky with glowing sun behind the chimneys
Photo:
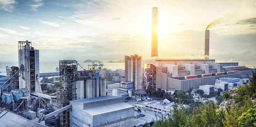
[[[31,41],[40,61],[120,60],[151,55],[151,9],[158,7],[159,58],[256,61],[255,0],[0,0],[0,59],[18,61]]]

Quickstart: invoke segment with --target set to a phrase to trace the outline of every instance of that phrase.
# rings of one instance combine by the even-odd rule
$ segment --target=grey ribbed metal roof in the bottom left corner
[[[0,127],[46,127],[45,125],[12,114],[6,110],[0,112]]]

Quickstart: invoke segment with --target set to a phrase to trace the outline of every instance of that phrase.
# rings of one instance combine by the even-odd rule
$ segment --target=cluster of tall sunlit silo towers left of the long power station
[[[142,87],[142,58],[137,54],[125,56],[125,81],[133,82],[134,90]]]

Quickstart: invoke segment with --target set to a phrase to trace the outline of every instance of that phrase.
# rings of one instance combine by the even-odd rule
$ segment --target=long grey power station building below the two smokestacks
[[[171,91],[199,89],[199,85],[215,84],[220,77],[239,78],[252,71],[238,63],[215,63],[215,59],[154,58],[143,60],[143,85]]]

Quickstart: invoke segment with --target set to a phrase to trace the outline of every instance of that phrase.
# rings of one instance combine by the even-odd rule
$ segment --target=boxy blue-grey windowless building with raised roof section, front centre
[[[134,126],[134,108],[123,97],[102,96],[71,101],[71,127]]]

